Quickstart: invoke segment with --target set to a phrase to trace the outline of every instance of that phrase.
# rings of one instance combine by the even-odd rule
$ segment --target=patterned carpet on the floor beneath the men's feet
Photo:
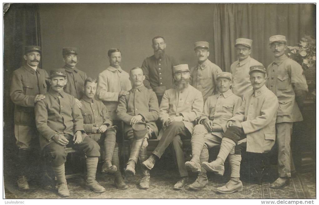
[[[139,167],[138,167],[139,168]],[[290,185],[280,190],[269,188],[269,182],[263,182],[262,185],[250,183],[249,179],[241,179],[243,181],[243,191],[233,194],[218,194],[216,188],[223,186],[229,179],[229,173],[226,172],[223,177],[209,174],[209,184],[201,191],[192,191],[186,186],[181,191],[173,189],[174,184],[178,181],[178,172],[173,167],[159,169],[154,167],[151,171],[150,188],[141,190],[138,188],[139,178],[142,176],[141,171],[137,168],[136,176],[128,176],[126,183],[130,186],[126,190],[118,190],[115,188],[111,175],[98,173],[97,180],[104,186],[107,191],[104,193],[94,193],[86,190],[83,178],[68,179],[68,187],[70,189],[70,197],[74,199],[307,199],[315,198],[315,173],[298,174],[290,179]],[[276,167],[271,170],[275,171]],[[277,178],[277,176],[273,176]],[[195,181],[196,175],[190,173],[189,182]],[[273,179],[274,180],[274,179]],[[20,199],[58,199],[56,191],[50,187],[41,188],[34,181],[30,182],[31,189],[28,192],[20,192],[16,183],[8,179],[5,183],[6,198]],[[310,192],[308,191],[310,190]]]

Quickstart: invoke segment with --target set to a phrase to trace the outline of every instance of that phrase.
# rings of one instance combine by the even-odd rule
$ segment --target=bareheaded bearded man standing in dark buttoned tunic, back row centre
[[[165,90],[174,87],[172,68],[178,64],[174,57],[165,53],[164,37],[155,36],[152,39],[152,48],[154,49],[154,55],[145,58],[141,68],[145,75],[145,87],[153,89],[160,104]]]

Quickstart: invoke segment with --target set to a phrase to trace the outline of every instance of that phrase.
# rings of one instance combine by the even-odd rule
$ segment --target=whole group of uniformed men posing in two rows
[[[108,50],[110,65],[98,79],[78,70],[76,48],[63,48],[65,66],[48,75],[38,67],[41,48],[26,46],[26,64],[13,72],[10,88],[19,147],[19,189],[29,189],[25,170],[34,140],[40,141],[60,196],[70,195],[65,178],[66,147],[85,153],[87,188],[106,191],[95,179],[100,153],[101,171],[113,174],[118,189],[128,188],[116,142],[122,122],[131,147],[125,172],[135,175],[140,161],[141,189],[149,187],[150,170],[172,143],[181,177],[174,189],[188,184],[188,171],[198,172],[189,188],[203,189],[208,184],[206,171],[222,176],[228,157],[231,178],[217,191],[241,191],[241,151],[267,153],[275,141],[279,177],[271,188],[284,188],[295,172],[290,138],[293,122],[302,120],[300,110],[308,87],[301,66],[285,55],[286,37],[275,35],[269,40],[274,61],[267,69],[250,57],[252,40],[239,38],[234,45],[238,60],[231,65],[231,72],[222,72],[208,59],[208,42],[194,44],[198,64],[189,69],[167,55],[164,38],[156,36],[152,39],[154,55],[129,73],[120,66],[121,51]],[[148,157],[147,140],[151,138],[159,143]],[[183,139],[191,139],[192,159],[188,162]],[[99,144],[104,145],[103,150]],[[208,148],[215,146],[220,146],[219,154],[208,163]]]

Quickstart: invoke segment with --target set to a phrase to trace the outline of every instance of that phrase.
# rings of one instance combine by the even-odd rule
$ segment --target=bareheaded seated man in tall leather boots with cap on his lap
[[[158,100],[156,94],[144,86],[144,80],[145,75],[141,68],[134,67],[130,70],[130,81],[133,88],[129,91],[129,95],[121,96],[116,110],[117,116],[125,123],[124,132],[131,145],[130,158],[125,171],[133,175],[135,175],[135,165],[138,158],[140,163],[147,158],[147,139],[152,136],[152,133],[156,136],[158,134],[155,124],[155,121],[159,118]],[[137,132],[134,128],[134,125],[142,122],[147,124],[145,133]],[[140,129],[143,130],[143,125]],[[147,189],[150,182],[150,172],[144,166],[142,166],[142,171],[144,176],[139,187]]]

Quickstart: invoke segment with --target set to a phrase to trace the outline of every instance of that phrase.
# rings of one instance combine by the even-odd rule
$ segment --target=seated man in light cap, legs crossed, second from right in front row
[[[200,163],[208,162],[208,148],[220,145],[226,132],[226,122],[233,117],[242,103],[241,98],[229,89],[232,85],[230,72],[218,73],[216,80],[219,93],[208,97],[205,102],[203,114],[198,121],[199,125],[195,126],[191,139],[192,159],[185,163],[187,170],[199,172],[196,181],[189,185],[193,190],[200,190],[207,185],[206,170],[200,166]],[[234,167],[231,157],[233,155],[229,155],[230,166]],[[232,171],[231,176],[235,174]]]

